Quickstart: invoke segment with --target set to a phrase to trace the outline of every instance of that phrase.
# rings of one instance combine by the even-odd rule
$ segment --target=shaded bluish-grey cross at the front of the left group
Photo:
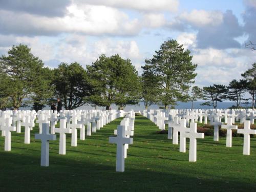
[[[42,123],[42,133],[35,134],[41,140],[41,166],[49,166],[49,141],[56,140],[56,135],[49,134],[49,123]]]

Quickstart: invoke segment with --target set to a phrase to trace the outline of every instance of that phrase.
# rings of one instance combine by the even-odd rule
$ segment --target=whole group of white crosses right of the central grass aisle
[[[161,110],[148,110],[144,111],[143,115],[145,117],[150,117],[152,116],[154,118],[153,122],[157,120],[158,117],[161,118],[161,115],[159,116],[158,114],[164,113],[161,112]],[[165,112],[166,113],[166,112]],[[197,110],[191,111],[191,110],[179,110],[178,113],[177,111],[171,112],[172,115],[170,115],[168,118],[165,118],[164,124],[168,124],[168,139],[173,139],[173,144],[178,144],[178,132],[181,134],[181,139],[180,139],[180,152],[185,152],[185,140],[182,133],[188,132],[188,128],[186,125],[189,126],[189,122],[194,123],[195,121],[198,121],[198,117],[200,121],[202,122],[202,116],[204,116],[204,123],[207,124],[207,119],[210,120],[210,125],[214,125],[214,141],[219,141],[219,126],[221,126],[222,129],[227,130],[227,135],[226,135],[226,146],[231,147],[232,146],[232,130],[237,130],[238,126],[237,125],[232,125],[235,121],[235,118],[238,118],[237,120],[240,119],[241,123],[244,123],[244,129],[239,129],[238,133],[244,133],[244,150],[243,154],[244,155],[249,155],[250,150],[250,137],[249,134],[254,134],[256,131],[255,130],[250,130],[250,124],[254,123],[254,111],[252,110]],[[201,116],[201,118],[200,118]],[[181,117],[185,118],[181,119]],[[223,124],[221,122],[221,119],[224,118],[224,122],[226,124]],[[246,118],[250,118],[249,121],[246,120]],[[155,122],[156,123],[156,122]],[[190,127],[193,127],[195,129],[194,124],[190,124]],[[200,138],[200,137],[199,137]],[[193,144],[194,145],[194,144]],[[193,150],[192,150],[193,152]],[[191,152],[191,153],[192,153]],[[194,154],[194,152],[192,153]],[[191,156],[191,159],[195,159],[193,155]]]

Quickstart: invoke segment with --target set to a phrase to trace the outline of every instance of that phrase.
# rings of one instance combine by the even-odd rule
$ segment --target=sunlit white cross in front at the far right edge
[[[244,134],[244,149],[243,154],[244,155],[250,155],[250,134],[255,135],[256,130],[250,129],[250,121],[244,122],[244,129],[238,129],[238,133]]]

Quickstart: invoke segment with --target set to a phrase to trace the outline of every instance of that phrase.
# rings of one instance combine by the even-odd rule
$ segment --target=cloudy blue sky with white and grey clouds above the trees
[[[0,54],[27,44],[45,65],[130,58],[141,73],[168,39],[198,63],[196,84],[228,84],[256,62],[256,0],[0,0]]]

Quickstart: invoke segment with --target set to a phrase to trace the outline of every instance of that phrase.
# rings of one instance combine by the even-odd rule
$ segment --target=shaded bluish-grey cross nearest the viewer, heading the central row
[[[124,144],[133,144],[133,138],[125,137],[125,126],[117,126],[117,137],[110,137],[110,143],[117,144],[116,172],[124,172]]]

